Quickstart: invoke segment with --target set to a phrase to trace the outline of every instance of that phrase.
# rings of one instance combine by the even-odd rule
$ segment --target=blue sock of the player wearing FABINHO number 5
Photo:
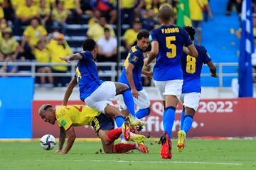
[[[169,139],[171,139],[171,130],[174,125],[176,108],[169,106],[166,108],[166,113],[164,113],[164,132],[168,133]]]

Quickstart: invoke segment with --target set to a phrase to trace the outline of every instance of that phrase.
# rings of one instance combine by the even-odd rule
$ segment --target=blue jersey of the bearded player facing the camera
[[[132,72],[134,85],[137,91],[141,91],[142,87],[142,67],[144,65],[144,56],[143,51],[136,45],[133,46],[127,55],[127,59],[124,62],[124,68],[122,69],[122,74],[119,77],[119,82],[127,84],[129,86],[129,82],[127,80],[127,75],[125,73],[125,69],[127,68],[128,64],[134,64],[134,69]],[[129,86],[130,87],[130,86]]]

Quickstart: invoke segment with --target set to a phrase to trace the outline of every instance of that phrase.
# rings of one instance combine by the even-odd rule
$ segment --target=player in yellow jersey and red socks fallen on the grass
[[[98,137],[102,140],[102,147],[105,153],[124,153],[132,149],[138,149],[143,153],[148,153],[143,141],[146,140],[144,135],[137,135],[129,131],[129,123],[124,122],[122,128],[114,129],[114,120],[109,116],[96,111],[93,108],[82,105],[61,106],[54,108],[49,104],[44,104],[39,108],[38,114],[41,118],[54,125],[57,120],[60,127],[59,148],[56,153],[67,154],[75,142],[74,126],[91,125]],[[124,138],[136,143],[117,144],[114,140],[123,134]],[[68,142],[63,150],[65,137],[68,135]]]

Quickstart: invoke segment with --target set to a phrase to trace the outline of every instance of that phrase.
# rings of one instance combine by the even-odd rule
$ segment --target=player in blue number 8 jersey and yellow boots
[[[187,26],[185,30],[194,40],[195,30]],[[201,81],[200,74],[203,64],[208,64],[210,68],[210,76],[218,77],[216,67],[210,59],[205,47],[196,45],[198,50],[198,57],[191,57],[183,52],[181,57],[181,66],[183,70],[183,86],[181,94],[181,102],[183,103],[183,111],[181,113],[181,130],[178,131],[178,152],[182,152],[185,147],[186,134],[191,129],[193,123],[193,115],[199,106],[201,96]]]

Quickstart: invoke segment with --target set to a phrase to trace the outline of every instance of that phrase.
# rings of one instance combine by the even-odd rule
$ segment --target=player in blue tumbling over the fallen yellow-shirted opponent
[[[128,110],[134,111],[134,101],[129,86],[126,84],[114,83],[112,81],[102,81],[98,77],[97,67],[94,62],[97,55],[95,40],[85,40],[82,48],[82,52],[68,55],[67,57],[60,57],[60,60],[64,60],[65,62],[78,60],[78,65],[75,69],[75,77],[68,85],[68,89],[66,90],[63,99],[63,105],[67,105],[68,98],[72,94],[76,84],[78,84],[80,89],[80,99],[85,101],[90,108],[95,108],[101,113],[110,115],[115,119],[117,126],[120,127],[124,123],[124,117],[121,115],[118,108],[113,106],[110,99],[118,94],[122,94]]]

